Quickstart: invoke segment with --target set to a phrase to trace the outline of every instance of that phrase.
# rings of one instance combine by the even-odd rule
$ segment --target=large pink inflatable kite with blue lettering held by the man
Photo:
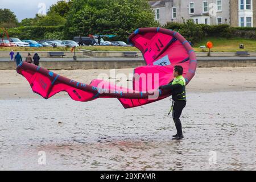
[[[143,54],[146,65],[134,69],[133,89],[127,89],[103,80],[90,84],[70,80],[34,64],[20,63],[17,72],[30,83],[32,90],[44,98],[67,92],[76,101],[86,102],[97,98],[118,98],[123,107],[137,107],[171,96],[168,90],[159,90],[174,79],[175,65],[184,69],[186,84],[195,75],[196,55],[187,40],[179,32],[164,28],[139,28],[128,42]],[[158,97],[152,97],[157,93]]]

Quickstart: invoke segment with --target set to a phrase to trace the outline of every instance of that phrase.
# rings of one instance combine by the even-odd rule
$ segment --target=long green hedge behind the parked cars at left
[[[64,26],[48,26],[48,27],[18,27],[7,29],[10,37],[19,39],[33,39],[40,40],[44,39],[45,35],[49,32],[63,32]]]

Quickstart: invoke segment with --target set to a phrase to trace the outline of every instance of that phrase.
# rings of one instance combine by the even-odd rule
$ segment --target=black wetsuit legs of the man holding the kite
[[[186,106],[186,101],[175,101],[174,109],[172,110],[172,118],[174,119],[177,135],[179,137],[183,136],[180,115],[185,106]]]

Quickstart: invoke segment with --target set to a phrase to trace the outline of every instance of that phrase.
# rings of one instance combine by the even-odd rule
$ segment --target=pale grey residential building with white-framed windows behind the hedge
[[[150,1],[160,24],[195,23],[230,24],[234,27],[256,27],[256,0],[162,0]]]

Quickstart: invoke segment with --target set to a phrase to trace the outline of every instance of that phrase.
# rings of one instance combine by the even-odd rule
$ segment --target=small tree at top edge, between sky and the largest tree
[[[73,0],[68,2],[64,0],[58,1],[55,5],[52,5],[49,8],[49,11],[47,14],[55,13],[57,15],[66,17],[69,10],[71,9],[72,4],[73,4]]]

